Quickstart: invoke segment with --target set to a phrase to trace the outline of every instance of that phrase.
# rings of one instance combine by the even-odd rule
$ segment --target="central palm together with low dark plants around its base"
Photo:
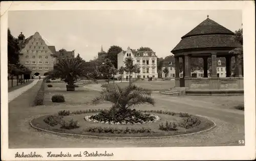
[[[131,110],[132,106],[144,103],[155,104],[155,100],[151,97],[152,91],[142,87],[131,85],[121,88],[116,84],[104,84],[102,87],[101,95],[95,97],[92,102],[94,104],[112,102],[113,105],[109,111],[102,111],[95,115],[95,118],[121,123],[126,119],[145,116],[140,111]]]

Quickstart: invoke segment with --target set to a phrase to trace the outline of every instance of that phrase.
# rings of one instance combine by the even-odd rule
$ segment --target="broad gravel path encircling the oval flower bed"
[[[94,88],[95,89],[95,88]],[[110,104],[57,105],[57,106],[12,106],[15,101],[25,99],[28,93],[9,103],[9,148],[103,148],[103,147],[182,147],[182,146],[238,146],[238,140],[244,140],[244,112],[223,105],[226,97],[170,97],[153,94],[155,106],[142,105],[140,110],[168,110],[202,115],[213,120],[217,126],[210,131],[190,136],[166,139],[142,140],[103,140],[58,136],[38,131],[30,127],[29,121],[35,117],[56,113],[60,110],[84,110],[88,108],[108,108]],[[243,96],[230,96],[234,102],[243,101]],[[157,107],[157,109],[156,109]]]

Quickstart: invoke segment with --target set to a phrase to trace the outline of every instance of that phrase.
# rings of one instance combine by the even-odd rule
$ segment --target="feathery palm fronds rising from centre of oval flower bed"
[[[131,106],[144,103],[155,104],[155,100],[151,97],[152,91],[138,87],[136,85],[120,88],[116,84],[104,84],[101,95],[93,99],[94,104],[112,102],[111,110],[126,111]]]

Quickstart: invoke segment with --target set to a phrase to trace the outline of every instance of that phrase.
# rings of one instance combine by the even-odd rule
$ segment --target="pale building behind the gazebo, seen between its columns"
[[[175,58],[174,58],[174,56],[168,56],[163,60],[162,77],[165,77],[165,73],[163,72],[165,67],[167,67],[169,70],[167,77],[175,78]],[[192,77],[203,77],[203,70],[194,70],[193,72],[191,72],[191,76]],[[209,70],[208,70],[208,76],[210,77]],[[226,77],[226,64],[225,64],[224,58],[218,59],[217,76],[218,77]],[[183,77],[183,71],[180,72],[180,77]]]

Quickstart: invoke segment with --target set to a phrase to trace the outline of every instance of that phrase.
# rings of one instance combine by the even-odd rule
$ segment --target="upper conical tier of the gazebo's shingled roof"
[[[196,28],[194,28],[189,33],[181,37],[181,39],[190,37],[190,36],[195,36],[195,35],[209,35],[209,34],[234,35],[232,31],[226,29],[224,26],[220,25],[214,20],[207,18],[206,20],[201,22],[199,25],[197,25]]]

